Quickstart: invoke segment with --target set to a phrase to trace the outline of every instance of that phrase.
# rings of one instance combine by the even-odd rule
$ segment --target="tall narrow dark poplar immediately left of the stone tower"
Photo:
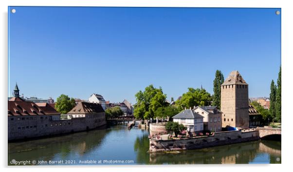
[[[220,70],[216,71],[214,79],[214,95],[213,106],[217,106],[220,109],[221,106],[221,84],[224,82],[224,76]]]

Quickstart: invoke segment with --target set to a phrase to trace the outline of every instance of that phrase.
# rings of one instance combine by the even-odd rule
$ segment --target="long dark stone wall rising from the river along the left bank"
[[[57,115],[8,116],[8,141],[82,132],[106,124],[104,112],[63,120],[50,116]]]

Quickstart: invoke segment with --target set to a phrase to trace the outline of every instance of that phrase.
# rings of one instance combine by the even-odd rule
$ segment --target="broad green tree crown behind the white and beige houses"
[[[183,110],[193,106],[209,106],[211,101],[212,97],[205,89],[188,88],[188,92],[176,101],[176,106],[179,110]]]

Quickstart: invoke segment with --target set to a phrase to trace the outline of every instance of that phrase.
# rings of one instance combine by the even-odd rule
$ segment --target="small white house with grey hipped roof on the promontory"
[[[172,117],[174,122],[183,124],[191,133],[203,131],[203,116],[190,109],[183,110]]]

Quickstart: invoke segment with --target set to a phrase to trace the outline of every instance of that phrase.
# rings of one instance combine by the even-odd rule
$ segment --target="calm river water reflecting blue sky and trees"
[[[26,161],[27,165],[281,163],[281,141],[252,141],[168,153],[148,153],[148,146],[147,130],[128,130],[126,125],[115,125],[8,143],[8,165],[16,161]]]

